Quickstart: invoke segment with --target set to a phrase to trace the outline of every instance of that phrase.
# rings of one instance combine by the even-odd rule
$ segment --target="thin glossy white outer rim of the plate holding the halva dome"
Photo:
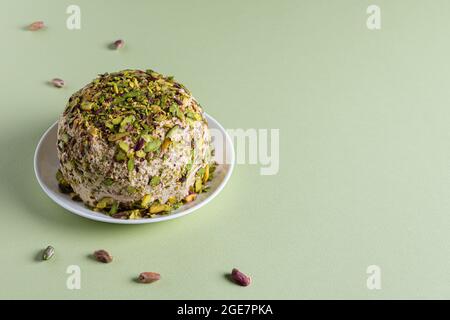
[[[167,221],[167,220],[172,220],[172,219],[176,219],[176,218],[180,218],[182,216],[185,216],[187,214],[190,214],[198,209],[200,209],[201,207],[203,207],[204,205],[206,205],[207,203],[209,203],[211,200],[213,200],[225,187],[225,185],[228,183],[228,180],[230,179],[233,170],[234,170],[234,166],[235,166],[235,151],[234,151],[234,146],[233,146],[233,141],[231,140],[230,135],[228,134],[228,132],[225,130],[225,128],[216,120],[214,119],[212,116],[210,116],[209,114],[207,114],[205,112],[205,117],[207,118],[208,121],[212,121],[215,123],[215,125],[219,128],[219,130],[225,135],[225,146],[226,146],[226,150],[227,152],[230,151],[230,163],[227,163],[227,165],[229,165],[229,170],[226,173],[225,177],[223,178],[223,180],[220,182],[220,184],[218,185],[217,189],[215,189],[207,198],[205,198],[204,200],[202,200],[201,202],[199,202],[198,204],[183,210],[179,213],[175,213],[175,214],[169,214],[166,216],[161,216],[161,217],[157,217],[157,218],[145,218],[145,219],[136,219],[136,220],[122,220],[122,219],[114,219],[108,216],[100,216],[100,215],[93,215],[90,213],[85,213],[83,211],[80,211],[76,208],[71,207],[70,205],[68,205],[65,201],[62,201],[60,199],[60,197],[58,197],[57,195],[55,195],[53,193],[52,190],[50,190],[47,185],[44,183],[44,181],[42,181],[40,175],[39,175],[39,171],[38,171],[38,153],[41,149],[42,143],[44,142],[45,138],[47,137],[47,135],[49,134],[49,132],[53,129],[54,126],[56,126],[58,124],[58,121],[55,121],[53,124],[51,124],[42,134],[42,136],[39,139],[39,142],[36,145],[36,148],[34,150],[34,156],[33,156],[33,167],[34,167],[34,174],[35,177],[40,185],[40,187],[42,188],[42,190],[44,191],[44,193],[53,200],[53,202],[55,202],[56,204],[58,204],[59,206],[63,207],[64,209],[66,209],[67,211],[69,211],[72,214],[76,214],[78,216],[81,216],[83,218],[89,219],[89,220],[94,220],[94,221],[99,221],[99,222],[105,222],[105,223],[113,223],[113,224],[127,224],[127,225],[136,225],[136,224],[147,224],[147,223],[155,223],[155,222],[161,222],[161,221]],[[228,146],[230,147],[228,150]],[[88,208],[86,208],[87,210],[89,210]],[[92,210],[90,210],[92,211]],[[94,212],[94,211],[92,211]]]

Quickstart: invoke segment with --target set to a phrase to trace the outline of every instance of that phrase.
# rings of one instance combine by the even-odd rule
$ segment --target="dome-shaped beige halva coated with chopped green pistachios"
[[[207,191],[215,164],[199,103],[153,70],[99,75],[58,123],[60,190],[115,218],[167,214]]]

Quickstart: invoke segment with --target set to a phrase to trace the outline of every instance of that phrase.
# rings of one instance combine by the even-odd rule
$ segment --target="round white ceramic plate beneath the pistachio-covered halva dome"
[[[142,224],[175,219],[194,212],[211,201],[223,189],[234,168],[234,149],[230,136],[214,118],[206,115],[206,119],[208,120],[209,128],[215,132],[215,134],[212,134],[213,144],[215,147],[215,159],[219,163],[214,173],[214,178],[210,182],[210,189],[208,192],[200,194],[195,201],[185,204],[164,216],[139,220],[114,219],[102,213],[92,211],[84,206],[82,202],[73,201],[70,196],[61,193],[55,178],[56,171],[59,168],[59,160],[56,153],[57,123],[54,123],[45,131],[36,147],[34,154],[34,172],[42,189],[53,201],[82,217],[120,224]]]

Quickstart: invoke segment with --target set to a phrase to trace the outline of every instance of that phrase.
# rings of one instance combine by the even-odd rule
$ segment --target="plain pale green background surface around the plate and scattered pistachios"
[[[366,27],[374,2],[379,31]],[[70,4],[81,30],[66,28]],[[445,0],[2,1],[0,298],[449,298],[449,11]],[[23,29],[36,20],[48,28]],[[125,47],[108,50],[117,38]],[[175,75],[226,128],[279,128],[279,173],[238,165],[210,204],[157,224],[57,206],[34,176],[38,139],[72,92],[124,68]],[[37,261],[48,244],[56,256]],[[99,248],[115,261],[89,259]],[[81,290],[66,288],[72,264]],[[381,290],[366,287],[371,264]],[[253,284],[230,283],[233,267]],[[141,271],[162,280],[137,284]]]

